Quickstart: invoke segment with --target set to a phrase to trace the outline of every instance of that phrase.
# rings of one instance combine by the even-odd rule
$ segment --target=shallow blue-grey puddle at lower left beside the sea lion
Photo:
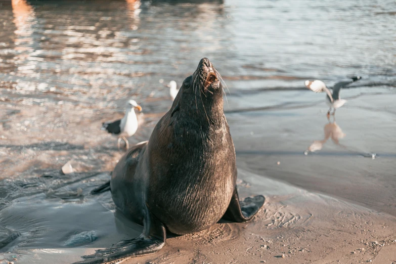
[[[81,188],[82,196],[75,199],[50,198],[44,190],[9,201],[0,211],[0,226],[11,233],[1,232],[0,236],[2,241],[12,242],[1,249],[3,256],[0,259],[17,259],[17,263],[50,263],[51,259],[59,257],[54,253],[62,253],[66,258],[56,262],[69,263],[96,248],[140,235],[140,226],[115,211],[110,192],[90,195],[93,186],[108,177],[107,173],[87,179],[82,177],[81,181],[54,190],[55,195],[61,193],[64,196]],[[42,178],[37,178],[36,181],[48,187],[58,179],[47,178],[42,182]],[[24,189],[16,192],[23,195],[24,191],[29,194]]]

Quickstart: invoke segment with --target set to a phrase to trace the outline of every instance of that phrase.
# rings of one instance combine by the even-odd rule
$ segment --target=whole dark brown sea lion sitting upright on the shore
[[[247,206],[239,203],[235,148],[220,79],[203,58],[183,81],[149,141],[131,147],[112,172],[113,201],[126,217],[144,226],[143,234],[76,263],[154,253],[165,245],[166,229],[183,235],[206,229],[222,217],[245,222],[258,212],[265,201],[261,195],[246,198]]]

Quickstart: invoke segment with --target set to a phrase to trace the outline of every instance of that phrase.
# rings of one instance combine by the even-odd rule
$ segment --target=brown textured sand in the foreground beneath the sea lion
[[[267,198],[265,208],[253,221],[244,224],[216,224],[197,234],[168,238],[166,247],[160,252],[120,263],[394,261],[392,254],[396,249],[396,227],[393,216],[262,178],[242,169],[239,174],[240,179],[243,179],[239,184],[241,195],[263,193]],[[103,211],[92,204],[88,208],[93,218],[98,211]],[[138,229],[135,229],[135,233],[130,232],[130,229],[126,233],[125,228],[117,223],[114,227],[114,223],[109,221],[112,215],[106,214],[108,216],[101,215],[104,230],[98,230],[99,238],[93,243],[94,248],[19,249],[21,256],[18,262],[51,263],[57,259],[57,263],[69,263],[78,260],[78,255],[93,253],[94,249],[127,238],[126,234],[138,234]],[[83,228],[84,225],[80,227]],[[103,234],[106,232],[115,232],[118,236]],[[390,253],[382,253],[384,251]],[[59,255],[54,253],[62,253],[63,260],[60,261]],[[383,262],[384,259],[387,261]]]

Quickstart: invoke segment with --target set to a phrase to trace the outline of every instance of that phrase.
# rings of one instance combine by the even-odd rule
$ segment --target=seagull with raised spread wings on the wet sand
[[[350,83],[360,80],[361,78],[361,76],[353,76],[351,77],[352,81],[337,82],[334,84],[333,93],[330,92],[330,90],[326,87],[326,84],[321,80],[306,80],[304,84],[308,89],[314,91],[315,93],[326,92],[326,104],[330,107],[329,111],[327,112],[327,116],[330,116],[330,111],[332,108],[334,108],[334,112],[332,113],[332,115],[334,115],[335,109],[340,108],[347,102],[345,99],[341,99],[340,97],[341,88],[346,87]]]

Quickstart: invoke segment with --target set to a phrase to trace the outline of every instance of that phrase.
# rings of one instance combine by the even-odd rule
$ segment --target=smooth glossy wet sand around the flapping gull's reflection
[[[233,114],[228,118],[231,123],[248,120],[231,128],[237,132],[233,139],[238,166],[396,216],[396,112],[388,101],[394,97],[388,93],[349,99],[336,113],[336,124],[345,134],[339,139],[344,147],[329,139],[322,150],[307,156],[303,151],[324,138],[324,126],[329,123],[324,103]]]

